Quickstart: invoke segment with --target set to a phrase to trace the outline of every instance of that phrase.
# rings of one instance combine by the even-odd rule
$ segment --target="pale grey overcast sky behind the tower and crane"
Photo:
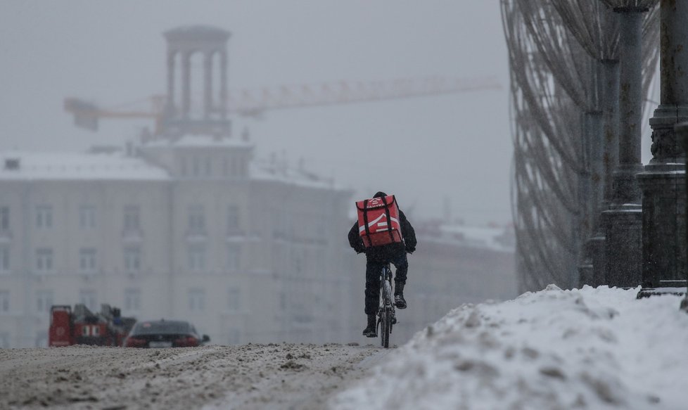
[[[395,193],[418,217],[507,223],[511,136],[499,1],[2,1],[0,150],[124,144],[148,122],[77,129],[78,96],[115,106],[165,92],[162,32],[229,30],[229,87],[495,75],[502,91],[336,105],[238,118],[256,155],[286,153],[356,196]],[[352,198],[352,200],[357,198]]]

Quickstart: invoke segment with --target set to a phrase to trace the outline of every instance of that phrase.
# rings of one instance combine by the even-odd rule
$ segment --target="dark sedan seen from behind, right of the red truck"
[[[125,347],[195,347],[210,342],[208,335],[198,336],[187,321],[140,321],[125,340]]]

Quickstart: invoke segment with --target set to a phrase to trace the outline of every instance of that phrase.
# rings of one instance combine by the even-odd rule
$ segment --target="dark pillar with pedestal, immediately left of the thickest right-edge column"
[[[647,8],[620,7],[618,167],[610,209],[602,212],[606,284],[635,287],[642,281],[642,207],[636,174],[642,119],[642,18]]]

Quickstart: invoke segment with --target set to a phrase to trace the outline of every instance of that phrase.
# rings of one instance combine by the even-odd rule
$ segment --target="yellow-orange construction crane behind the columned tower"
[[[499,90],[502,86],[495,77],[475,79],[447,79],[427,77],[422,79],[395,79],[375,82],[325,82],[293,86],[263,87],[230,91],[227,96],[228,114],[262,117],[268,110],[305,108],[321,105],[363,103],[441,94],[459,94],[469,91]],[[149,108],[125,109],[147,102]],[[64,108],[74,115],[77,127],[98,130],[101,118],[150,118],[155,121],[155,134],[160,134],[165,115],[167,96],[154,95],[143,100],[122,104],[113,108],[99,108],[95,103],[80,98],[65,98]]]

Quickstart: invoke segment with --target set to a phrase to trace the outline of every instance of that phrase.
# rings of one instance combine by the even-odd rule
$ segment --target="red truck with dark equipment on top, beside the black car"
[[[101,305],[101,312],[91,312],[85,305],[53,305],[50,308],[49,346],[96,345],[122,346],[136,323],[122,317],[120,309]]]

